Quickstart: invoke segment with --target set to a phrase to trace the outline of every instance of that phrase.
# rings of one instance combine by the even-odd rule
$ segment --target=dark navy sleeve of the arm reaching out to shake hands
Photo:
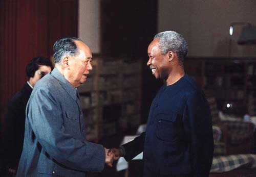
[[[122,147],[125,149],[124,159],[132,160],[144,150],[145,132],[136,137],[133,141],[125,143]]]

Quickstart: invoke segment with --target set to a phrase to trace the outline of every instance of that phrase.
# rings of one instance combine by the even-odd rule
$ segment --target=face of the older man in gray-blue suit
[[[76,41],[76,45],[79,53],[77,56],[70,57],[71,59],[68,61],[69,72],[66,78],[73,87],[78,87],[85,82],[88,74],[93,69],[91,49],[80,41]]]

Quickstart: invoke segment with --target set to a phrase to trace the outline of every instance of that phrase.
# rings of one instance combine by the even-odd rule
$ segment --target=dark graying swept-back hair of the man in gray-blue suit
[[[57,40],[53,45],[53,58],[54,63],[59,63],[61,58],[65,55],[68,56],[77,56],[79,51],[75,41],[82,41],[76,37],[67,37]]]

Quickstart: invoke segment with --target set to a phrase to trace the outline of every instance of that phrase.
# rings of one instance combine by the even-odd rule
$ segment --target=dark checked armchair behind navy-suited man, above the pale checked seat
[[[215,98],[211,97],[207,100],[211,110],[212,124],[214,124],[214,127],[221,129],[220,141],[216,141],[219,138],[219,130],[213,127],[215,139],[214,155],[251,153],[254,124],[245,122],[241,118],[232,118],[230,120],[221,119]]]

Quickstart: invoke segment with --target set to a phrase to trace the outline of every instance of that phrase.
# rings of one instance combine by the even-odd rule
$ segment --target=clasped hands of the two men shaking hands
[[[105,148],[105,163],[106,165],[112,167],[113,162],[118,160],[120,157],[123,157],[123,150],[122,148]]]

